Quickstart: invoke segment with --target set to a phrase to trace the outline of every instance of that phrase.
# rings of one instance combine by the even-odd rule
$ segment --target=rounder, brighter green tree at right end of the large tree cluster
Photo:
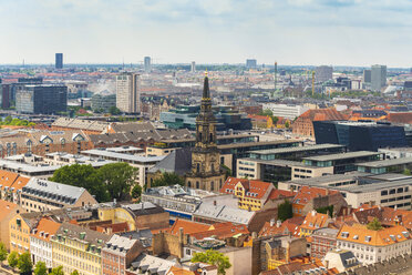
[[[97,177],[106,186],[112,200],[125,200],[130,197],[131,187],[136,184],[137,169],[128,163],[110,163],[97,170]]]

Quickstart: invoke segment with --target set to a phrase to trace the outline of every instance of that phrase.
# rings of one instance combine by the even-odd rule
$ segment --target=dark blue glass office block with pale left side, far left
[[[56,114],[68,111],[68,88],[62,84],[23,85],[16,93],[16,111]]]

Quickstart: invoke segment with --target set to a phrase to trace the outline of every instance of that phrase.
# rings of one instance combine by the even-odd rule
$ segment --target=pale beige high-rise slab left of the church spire
[[[116,77],[116,106],[125,113],[141,111],[138,74],[124,72]]]

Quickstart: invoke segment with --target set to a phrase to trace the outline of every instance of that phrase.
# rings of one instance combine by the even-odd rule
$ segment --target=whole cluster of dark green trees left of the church
[[[85,164],[66,165],[58,169],[50,180],[84,187],[97,202],[110,202],[128,200],[136,177],[137,169],[127,163],[110,163],[97,170]]]

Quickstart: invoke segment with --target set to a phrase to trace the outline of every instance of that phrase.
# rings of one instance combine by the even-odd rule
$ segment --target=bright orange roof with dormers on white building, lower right
[[[340,228],[337,240],[372,245],[385,246],[411,238],[410,233],[404,226],[392,226],[379,231],[368,230],[367,225],[353,224],[352,226],[343,224]]]

